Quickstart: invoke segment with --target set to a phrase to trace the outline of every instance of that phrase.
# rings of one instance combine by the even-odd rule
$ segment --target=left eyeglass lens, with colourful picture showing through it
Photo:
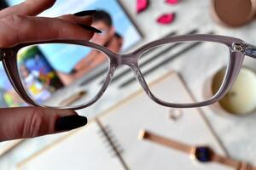
[[[89,103],[100,92],[102,83],[88,81],[81,88],[73,88],[73,84],[86,82],[101,69],[104,69],[102,77],[107,77],[108,63],[106,54],[94,48],[65,43],[28,46],[17,54],[26,94],[37,104],[49,107],[79,107]]]

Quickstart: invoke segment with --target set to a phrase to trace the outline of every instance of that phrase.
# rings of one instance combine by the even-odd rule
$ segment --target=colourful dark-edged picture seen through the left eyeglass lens
[[[18,53],[20,79],[26,92],[41,103],[63,84],[38,46],[22,48]]]

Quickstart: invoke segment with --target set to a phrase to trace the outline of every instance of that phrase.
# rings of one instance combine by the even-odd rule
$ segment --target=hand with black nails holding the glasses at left
[[[63,15],[57,18],[37,17],[50,8],[55,0],[26,0],[0,11],[0,48],[20,42],[54,39],[89,40],[94,32],[90,16]],[[84,126],[87,119],[75,111],[36,107],[0,109],[0,141],[24,139],[49,133],[59,133]]]

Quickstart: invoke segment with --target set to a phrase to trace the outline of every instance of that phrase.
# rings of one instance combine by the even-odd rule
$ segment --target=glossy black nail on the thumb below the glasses
[[[55,122],[55,131],[67,131],[83,127],[87,123],[85,116],[62,116]]]

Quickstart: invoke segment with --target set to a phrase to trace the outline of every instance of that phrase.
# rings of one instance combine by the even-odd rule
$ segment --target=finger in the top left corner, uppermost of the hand
[[[24,3],[4,8],[0,11],[0,18],[14,14],[35,16],[52,7],[55,1],[56,0],[26,0]]]

